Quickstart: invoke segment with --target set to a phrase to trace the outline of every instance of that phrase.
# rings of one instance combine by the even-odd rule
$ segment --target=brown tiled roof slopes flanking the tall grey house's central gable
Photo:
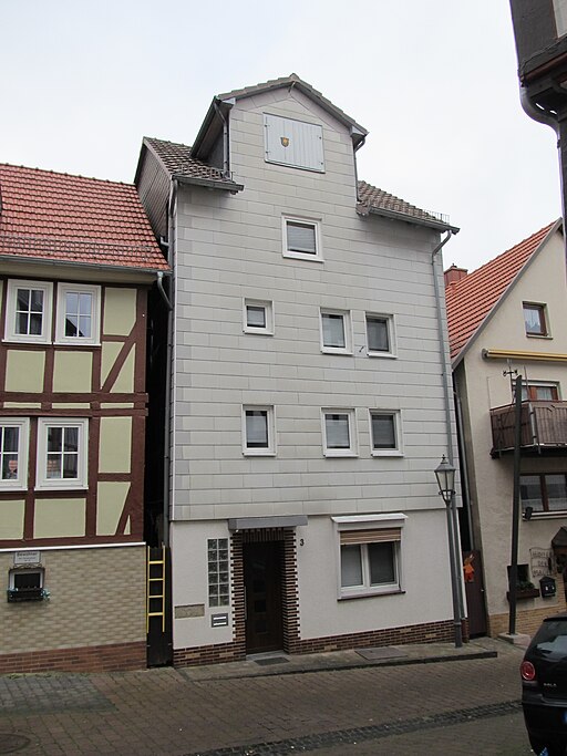
[[[188,178],[206,178],[213,182],[226,182],[220,170],[212,168],[192,156],[190,147],[185,144],[165,142],[153,137],[144,137],[144,144],[150,147],[159,158],[166,170],[172,176],[186,176]],[[440,229],[447,228],[446,221],[433,213],[421,210],[415,205],[410,205],[394,195],[388,194],[382,189],[359,182],[360,203],[365,210],[373,210],[388,215],[389,217],[400,216],[408,220],[425,222]]]

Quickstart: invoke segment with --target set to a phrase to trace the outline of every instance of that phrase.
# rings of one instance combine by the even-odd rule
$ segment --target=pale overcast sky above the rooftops
[[[506,0],[0,0],[0,162],[132,182],[215,94],[291,72],[369,130],[359,177],[461,232],[470,270],[560,215]]]

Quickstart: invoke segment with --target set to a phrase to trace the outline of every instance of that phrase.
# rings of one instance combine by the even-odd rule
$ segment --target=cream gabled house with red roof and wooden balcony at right
[[[508,630],[516,371],[523,376],[518,550],[523,590],[517,594],[516,629],[532,633],[543,617],[565,609],[565,549],[557,540],[554,549],[554,539],[561,540],[567,524],[565,278],[560,221],[472,273],[455,267],[445,272],[468,488],[465,510],[471,530],[465,546],[473,551],[475,567],[467,589],[473,593],[477,589],[476,599],[468,596],[472,632],[478,623],[482,632],[484,611],[485,629],[492,635]],[[549,578],[556,593],[543,598]]]

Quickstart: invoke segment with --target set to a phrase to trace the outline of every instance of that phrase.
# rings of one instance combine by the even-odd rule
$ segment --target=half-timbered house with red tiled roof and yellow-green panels
[[[133,186],[0,165],[0,672],[146,663],[146,298]]]

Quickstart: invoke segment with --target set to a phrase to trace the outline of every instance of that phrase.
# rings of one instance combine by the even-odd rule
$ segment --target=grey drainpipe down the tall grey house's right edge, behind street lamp
[[[445,331],[443,328],[443,301],[441,298],[441,291],[440,291],[440,286],[439,286],[439,276],[436,271],[436,260],[437,260],[437,255],[439,252],[443,249],[443,247],[446,245],[446,242],[451,239],[453,234],[456,231],[452,231],[451,229],[447,229],[447,235],[446,237],[439,242],[439,245],[435,247],[435,249],[431,253],[431,268],[433,271],[433,287],[435,290],[435,307],[436,307],[436,314],[437,314],[437,335],[439,335],[439,343],[441,346],[441,375],[443,379],[443,400],[444,400],[444,405],[445,405],[445,433],[447,436],[447,460],[451,465],[453,465],[453,434],[451,429],[451,397],[453,395],[452,387],[449,385],[449,381],[451,380],[451,365],[449,363],[449,360],[445,354]],[[443,271],[442,271],[443,272]],[[462,580],[461,580],[461,559],[458,558],[458,555],[461,553],[461,545],[458,542],[458,521],[456,517],[456,504],[455,504],[455,497],[454,495],[451,497],[451,504],[447,507],[447,530],[449,530],[449,541],[452,548],[450,551],[450,558],[452,560],[452,580],[455,581],[456,583],[456,603],[457,605],[454,607],[456,609],[455,617],[458,613],[458,619],[462,620],[464,619],[465,611],[464,611],[464,600],[463,600],[463,586],[462,586]]]

